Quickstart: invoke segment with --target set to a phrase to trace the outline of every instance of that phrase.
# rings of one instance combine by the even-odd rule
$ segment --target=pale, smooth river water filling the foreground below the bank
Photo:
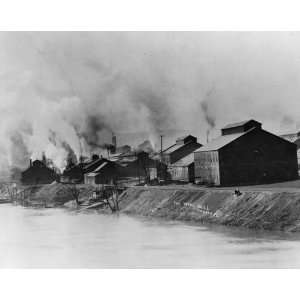
[[[300,235],[0,205],[1,268],[295,268]]]

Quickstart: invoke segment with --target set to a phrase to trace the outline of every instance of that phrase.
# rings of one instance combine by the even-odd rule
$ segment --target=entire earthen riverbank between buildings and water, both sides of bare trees
[[[119,206],[120,212],[125,214],[252,229],[300,231],[298,181],[289,183],[293,186],[286,184],[242,187],[241,195],[236,195],[233,188],[193,185],[130,187],[119,196]],[[71,188],[71,185],[59,183],[29,187],[25,206],[76,208]],[[76,188],[80,190],[80,202],[87,203],[94,187],[77,185]],[[100,207],[92,205],[90,208]],[[107,207],[101,210],[111,213]]]

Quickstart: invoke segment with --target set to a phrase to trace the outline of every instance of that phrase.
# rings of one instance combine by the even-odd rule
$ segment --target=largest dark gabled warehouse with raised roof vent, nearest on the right
[[[230,124],[195,152],[195,178],[210,185],[260,184],[298,177],[297,146],[255,120]]]

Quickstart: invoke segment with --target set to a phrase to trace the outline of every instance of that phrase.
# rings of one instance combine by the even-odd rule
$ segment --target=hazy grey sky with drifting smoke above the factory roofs
[[[300,127],[300,33],[0,33],[0,167],[110,141]]]

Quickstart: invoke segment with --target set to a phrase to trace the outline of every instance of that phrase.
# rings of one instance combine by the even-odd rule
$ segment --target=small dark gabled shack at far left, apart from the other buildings
[[[30,160],[29,167],[21,173],[21,182],[25,185],[49,184],[56,181],[57,177],[56,172],[44,162]]]

